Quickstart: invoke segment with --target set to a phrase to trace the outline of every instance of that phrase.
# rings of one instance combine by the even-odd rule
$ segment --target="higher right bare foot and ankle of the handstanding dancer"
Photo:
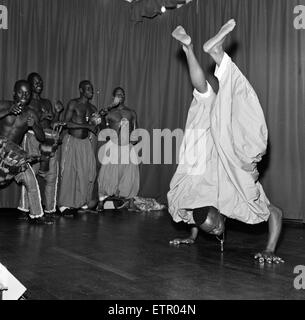
[[[218,65],[220,65],[224,55],[222,44],[225,41],[226,36],[235,28],[235,26],[235,20],[229,20],[221,27],[213,38],[203,45],[203,50],[206,53],[209,53]]]

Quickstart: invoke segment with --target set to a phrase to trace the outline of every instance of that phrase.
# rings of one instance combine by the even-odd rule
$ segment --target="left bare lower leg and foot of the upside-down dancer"
[[[205,93],[208,90],[208,85],[205,74],[195,56],[191,37],[181,26],[178,26],[173,31],[172,36],[182,44],[183,51],[186,54],[193,87],[200,93]]]

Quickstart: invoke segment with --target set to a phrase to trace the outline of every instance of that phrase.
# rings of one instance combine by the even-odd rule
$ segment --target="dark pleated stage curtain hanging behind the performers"
[[[171,32],[181,24],[190,33],[216,89],[202,45],[234,17],[227,50],[255,88],[269,126],[263,186],[285,218],[304,219],[305,30],[293,25],[300,2],[200,0],[134,23],[130,4],[122,0],[1,0],[9,28],[0,30],[0,97],[10,98],[15,80],[37,71],[44,95],[67,103],[78,96],[79,81],[89,78],[101,89],[101,106],[110,102],[115,86],[123,86],[127,105],[149,132],[184,128],[192,88]],[[165,201],[175,169],[141,165],[141,195]],[[16,206],[18,192],[15,185],[2,190],[0,205]]]

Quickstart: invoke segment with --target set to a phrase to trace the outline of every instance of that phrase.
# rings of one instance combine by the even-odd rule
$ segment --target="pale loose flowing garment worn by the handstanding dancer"
[[[248,224],[267,221],[270,202],[258,182],[257,163],[266,152],[268,130],[248,80],[225,54],[211,86],[194,90],[179,165],[168,192],[175,222],[193,224],[192,210],[214,206]]]

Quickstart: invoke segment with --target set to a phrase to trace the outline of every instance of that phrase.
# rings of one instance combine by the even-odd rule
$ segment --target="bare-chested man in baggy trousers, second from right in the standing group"
[[[63,139],[61,159],[61,183],[59,210],[64,215],[74,214],[78,209],[91,209],[96,159],[91,134],[96,125],[91,122],[97,113],[91,104],[93,86],[84,80],[79,84],[80,97],[72,99],[67,106],[65,122],[68,134]]]

